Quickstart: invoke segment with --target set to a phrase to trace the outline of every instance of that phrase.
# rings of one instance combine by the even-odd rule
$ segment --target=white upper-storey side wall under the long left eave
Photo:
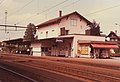
[[[48,33],[46,34],[46,32]],[[49,25],[39,28],[36,35],[38,36],[38,39],[58,37],[58,35],[60,35],[60,29],[58,27],[58,24]]]

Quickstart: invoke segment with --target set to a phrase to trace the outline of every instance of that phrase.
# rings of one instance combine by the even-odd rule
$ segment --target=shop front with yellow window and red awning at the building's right
[[[78,55],[90,58],[110,58],[111,49],[118,48],[116,43],[90,41],[78,43]]]

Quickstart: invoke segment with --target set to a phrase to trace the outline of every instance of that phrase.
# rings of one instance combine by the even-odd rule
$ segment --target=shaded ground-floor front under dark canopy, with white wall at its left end
[[[33,55],[34,56],[71,56],[71,46],[73,38],[52,38],[39,40],[39,43],[34,42]],[[37,49],[35,48],[37,47]],[[38,52],[38,55],[36,55]]]

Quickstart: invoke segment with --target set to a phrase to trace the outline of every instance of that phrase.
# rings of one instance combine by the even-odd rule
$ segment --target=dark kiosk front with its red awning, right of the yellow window
[[[94,58],[110,58],[110,50],[118,48],[118,45],[112,42],[99,42],[91,43],[91,48],[93,50],[92,56]]]

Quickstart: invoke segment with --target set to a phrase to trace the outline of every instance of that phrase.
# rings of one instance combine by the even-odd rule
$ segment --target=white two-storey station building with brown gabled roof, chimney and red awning
[[[116,43],[105,42],[103,36],[86,35],[91,22],[72,12],[37,25],[37,40],[31,43],[33,56],[110,57]]]

